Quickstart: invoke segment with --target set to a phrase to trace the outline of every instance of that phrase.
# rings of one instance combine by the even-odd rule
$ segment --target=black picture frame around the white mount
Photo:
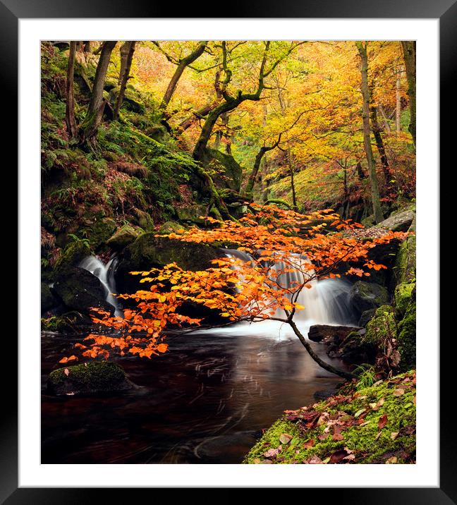
[[[176,8],[176,7],[175,7]],[[18,20],[23,18],[173,18],[173,6],[161,2],[143,4],[138,0],[128,2],[121,0],[0,0],[0,73],[1,87],[3,88],[2,108],[4,116],[2,122],[7,123],[2,140],[8,146],[8,157],[13,154],[8,162],[11,188],[17,184],[17,173],[14,155],[18,145],[17,126],[18,114],[16,100],[18,98]],[[240,5],[233,4],[230,11],[224,6],[207,5],[199,2],[197,5],[188,4],[179,6],[180,18],[204,18],[199,16],[210,13],[212,18],[439,18],[440,39],[440,96],[441,96],[441,138],[440,157],[444,159],[446,150],[453,146],[455,128],[445,128],[445,118],[449,116],[449,102],[446,104],[443,97],[452,97],[455,88],[457,67],[457,0],[383,0],[363,2],[360,0],[282,0],[280,3],[273,0],[260,2],[244,2]],[[446,110],[444,110],[446,107]],[[5,110],[6,109],[6,110]],[[11,109],[11,110],[9,110]],[[455,115],[454,115],[455,117]],[[8,118],[8,120],[6,120]],[[455,141],[454,141],[455,142]],[[449,157],[451,159],[451,157]],[[17,166],[17,164],[16,164]],[[6,169],[6,165],[4,165]],[[438,200],[440,201],[440,200]],[[441,204],[440,204],[441,205]],[[442,206],[441,214],[444,213]],[[13,237],[16,228],[15,222],[9,220],[9,233]],[[438,226],[438,224],[437,224]],[[13,238],[11,243],[14,244]],[[13,245],[8,247],[13,248]],[[13,252],[10,252],[13,256]],[[11,261],[11,258],[10,258]],[[19,272],[20,274],[20,272]],[[8,288],[11,293],[11,287]],[[14,299],[14,293],[10,300]],[[449,302],[448,302],[449,303]],[[443,306],[443,311],[450,307]],[[440,310],[441,314],[441,310]],[[10,320],[13,320],[11,317]],[[4,336],[6,337],[5,329]],[[435,331],[433,328],[432,331]],[[11,329],[11,335],[17,334]],[[11,339],[11,335],[9,338]],[[451,338],[451,335],[449,336]],[[11,351],[13,352],[11,342]],[[450,384],[452,355],[445,346],[441,345],[440,355],[440,383]],[[8,358],[10,363],[13,361]],[[17,370],[16,370],[17,372]],[[8,382],[4,378],[4,391],[0,415],[0,501],[7,505],[16,504],[80,504],[83,501],[111,500],[111,492],[116,493],[115,499],[131,499],[133,489],[85,489],[85,488],[18,488],[18,397],[17,373],[8,371]],[[15,384],[16,381],[16,384]],[[16,386],[16,387],[15,387]],[[325,501],[335,500],[341,503],[363,504],[456,504],[457,503],[457,446],[453,415],[453,401],[447,401],[444,386],[440,392],[440,468],[439,487],[436,488],[325,488],[306,490],[306,498],[310,493],[324,494]],[[5,398],[6,396],[6,398]],[[376,471],[376,470],[373,470]],[[210,483],[209,483],[210,485]],[[299,487],[300,483],[297,484]],[[141,489],[135,489],[135,495]],[[147,491],[147,489],[142,489]],[[230,497],[236,489],[228,489]],[[150,490],[150,492],[153,490]],[[188,489],[186,499],[196,497],[197,489]],[[305,495],[303,495],[305,497]],[[153,499],[150,495],[149,499]]]

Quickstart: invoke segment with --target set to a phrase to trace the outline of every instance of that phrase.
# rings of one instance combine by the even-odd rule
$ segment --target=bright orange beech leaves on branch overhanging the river
[[[304,309],[297,302],[300,292],[312,288],[312,281],[344,274],[369,276],[370,269],[386,268],[368,259],[370,249],[407,236],[382,231],[364,238],[358,232],[362,225],[342,220],[331,209],[304,215],[272,205],[251,204],[249,208],[251,213],[239,221],[206,218],[207,229],[192,228],[167,236],[183,242],[238,247],[250,255],[250,262],[222,256],[221,249],[221,257],[206,270],[190,272],[170,263],[162,269],[130,272],[142,277],[145,289],[118,298],[135,300],[136,307],[124,310],[123,317],[94,309],[92,321],[114,334],[90,334],[84,343],[75,344],[75,352],[78,349],[85,358],[104,359],[111,353],[141,358],[164,353],[168,348],[163,342],[164,329],[202,324],[202,320],[180,313],[188,303],[217,310],[228,324],[266,319],[291,322],[295,312]],[[281,274],[288,273],[300,281],[284,285]],[[76,359],[71,355],[61,363]]]

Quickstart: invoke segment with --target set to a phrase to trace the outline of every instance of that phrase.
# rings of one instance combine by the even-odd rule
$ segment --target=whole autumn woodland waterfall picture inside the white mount
[[[415,50],[41,43],[41,463],[415,463]]]

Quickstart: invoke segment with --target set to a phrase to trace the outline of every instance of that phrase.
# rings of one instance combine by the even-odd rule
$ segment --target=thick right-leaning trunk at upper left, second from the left
[[[81,145],[90,145],[94,142],[97,131],[102,122],[104,109],[103,87],[108,70],[111,52],[116,46],[116,40],[103,42],[102,52],[100,54],[97,70],[95,71],[94,85],[92,87],[92,96],[90,97],[89,110],[80,126]]]

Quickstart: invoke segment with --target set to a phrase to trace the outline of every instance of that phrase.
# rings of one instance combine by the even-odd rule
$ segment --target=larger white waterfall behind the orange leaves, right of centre
[[[227,249],[224,252],[228,257],[243,260],[244,262],[252,261],[252,257],[244,251]],[[282,287],[300,286],[303,284],[304,275],[312,276],[314,274],[313,271],[303,274],[303,269],[300,269],[300,263],[305,261],[305,258],[301,257],[300,259],[298,255],[294,255],[288,264],[284,262],[274,264],[272,269],[276,270],[276,281],[279,285]],[[298,269],[293,272],[285,272],[285,270],[291,269],[291,264],[295,264]],[[236,268],[239,269],[240,267]],[[323,279],[320,281],[313,279],[310,281],[310,285],[312,286],[311,288],[303,288],[295,299],[295,302],[305,307],[303,310],[299,310],[295,316],[295,322],[302,329],[306,329],[305,334],[307,334],[312,324],[355,324],[355,317],[349,302],[351,284],[348,281],[343,281],[342,279]],[[277,315],[284,317],[284,314],[281,312],[278,312]],[[249,324],[251,331],[257,334],[274,333],[276,336],[278,333],[280,335],[291,334],[291,329],[288,328],[288,325],[281,324],[281,322],[267,320],[254,324],[246,324]],[[230,328],[228,331],[238,330]]]

